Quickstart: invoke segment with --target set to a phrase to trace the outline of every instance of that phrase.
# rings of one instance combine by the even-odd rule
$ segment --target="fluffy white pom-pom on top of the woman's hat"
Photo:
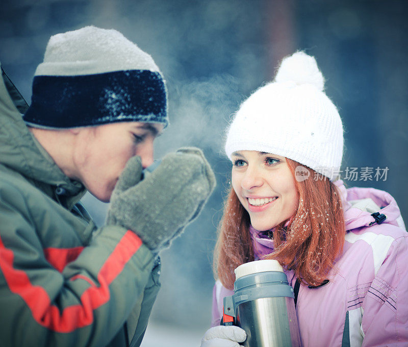
[[[316,59],[304,52],[296,52],[282,61],[276,73],[275,82],[311,84],[320,91],[324,89],[324,78],[317,66]]]

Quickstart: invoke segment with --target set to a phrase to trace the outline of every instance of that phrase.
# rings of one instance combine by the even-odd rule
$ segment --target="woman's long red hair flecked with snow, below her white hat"
[[[345,238],[340,192],[325,176],[311,170],[309,179],[295,180],[299,163],[287,159],[299,196],[294,216],[273,229],[274,251],[264,259],[276,259],[294,270],[303,284],[320,285],[341,254]],[[254,260],[249,214],[231,188],[224,203],[214,252],[214,272],[224,287],[233,289],[234,269]]]

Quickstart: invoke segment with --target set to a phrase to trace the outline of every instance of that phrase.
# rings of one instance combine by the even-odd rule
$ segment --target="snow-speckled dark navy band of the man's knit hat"
[[[119,121],[168,123],[166,87],[159,72],[126,70],[83,76],[36,76],[24,121],[75,128]]]

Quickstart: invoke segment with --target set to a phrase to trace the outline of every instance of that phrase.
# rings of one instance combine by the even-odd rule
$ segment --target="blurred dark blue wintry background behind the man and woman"
[[[244,98],[298,49],[316,57],[342,116],[343,169],[373,169],[372,181],[345,182],[387,190],[407,218],[407,17],[402,0],[2,1],[0,62],[28,102],[51,35],[90,24],[117,29],[155,59],[167,80],[171,124],[156,156],[195,145],[216,172],[205,210],[162,254],[162,289],[142,346],[199,345],[209,327],[212,252],[231,169],[224,130]],[[388,167],[386,180],[376,180],[377,167]],[[84,203],[103,224],[107,205],[90,195]]]

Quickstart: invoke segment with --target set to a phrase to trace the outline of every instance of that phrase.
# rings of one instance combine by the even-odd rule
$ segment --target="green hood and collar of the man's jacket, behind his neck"
[[[63,192],[64,205],[73,205],[81,199],[85,187],[69,179],[31,134],[22,120],[28,105],[3,68],[1,71],[0,163],[31,180],[47,195],[54,197],[58,187]]]

